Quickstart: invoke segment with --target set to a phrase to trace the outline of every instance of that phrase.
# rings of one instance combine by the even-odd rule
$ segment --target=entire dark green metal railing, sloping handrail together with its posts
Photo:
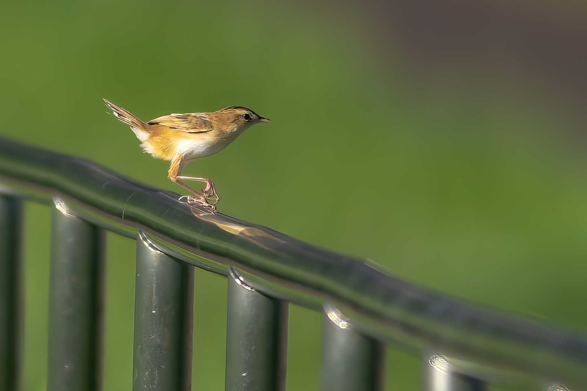
[[[288,302],[323,312],[322,390],[381,389],[386,343],[421,356],[429,390],[587,387],[585,336],[434,293],[83,159],[0,138],[0,185],[3,390],[18,388],[21,199],[55,206],[49,391],[100,389],[103,229],[137,242],[133,390],[190,389],[194,267],[228,277],[227,390],[285,389]]]

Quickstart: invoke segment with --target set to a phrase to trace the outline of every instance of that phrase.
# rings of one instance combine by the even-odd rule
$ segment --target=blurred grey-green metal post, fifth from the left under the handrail
[[[382,390],[383,344],[353,329],[335,308],[326,307],[323,319],[321,390]]]

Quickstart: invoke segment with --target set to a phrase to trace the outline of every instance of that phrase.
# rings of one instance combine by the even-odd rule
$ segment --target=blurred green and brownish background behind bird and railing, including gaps
[[[178,193],[143,120],[271,118],[186,175],[220,211],[468,300],[587,328],[587,8],[574,2],[3,4],[0,134]],[[583,45],[579,43],[583,42]],[[49,210],[27,205],[25,391],[46,384]],[[104,390],[131,388],[134,242],[108,236]],[[197,271],[194,390],[224,389],[226,280]],[[319,315],[292,306],[290,390],[318,390]],[[421,387],[389,348],[387,389]]]

